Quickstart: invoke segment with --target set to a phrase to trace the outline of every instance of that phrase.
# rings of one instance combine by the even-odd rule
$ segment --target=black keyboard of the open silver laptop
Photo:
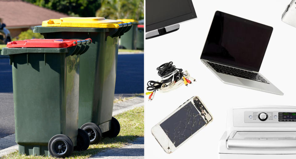
[[[249,79],[249,80],[269,84],[262,76],[260,76],[257,73],[251,72],[251,71],[236,69],[236,68],[233,68],[233,67],[220,65],[220,64],[213,63],[213,62],[208,62],[208,64],[210,66],[212,66],[213,69],[215,69],[217,72],[219,72],[221,74],[228,74],[228,75],[232,75],[232,76],[236,76],[236,77],[240,77],[240,78],[246,78],[246,79]]]

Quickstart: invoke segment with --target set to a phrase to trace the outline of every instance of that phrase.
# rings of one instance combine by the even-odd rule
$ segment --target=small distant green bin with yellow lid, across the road
[[[123,22],[132,22],[133,26],[130,31],[120,39],[120,47],[122,49],[136,50],[137,49],[137,26],[138,22],[134,19],[117,19]]]

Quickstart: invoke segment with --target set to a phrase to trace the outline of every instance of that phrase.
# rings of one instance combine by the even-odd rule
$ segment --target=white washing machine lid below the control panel
[[[226,143],[229,149],[296,149],[296,132],[238,131]]]

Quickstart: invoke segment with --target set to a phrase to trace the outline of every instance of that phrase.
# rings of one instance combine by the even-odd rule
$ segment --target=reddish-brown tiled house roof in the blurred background
[[[67,14],[21,0],[0,0],[0,18],[7,28],[41,25],[42,21],[68,17]]]

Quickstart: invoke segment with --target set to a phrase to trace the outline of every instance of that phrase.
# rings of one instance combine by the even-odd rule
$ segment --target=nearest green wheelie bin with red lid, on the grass
[[[79,61],[91,39],[9,42],[13,77],[15,141],[19,153],[68,157],[90,139],[78,129]]]

